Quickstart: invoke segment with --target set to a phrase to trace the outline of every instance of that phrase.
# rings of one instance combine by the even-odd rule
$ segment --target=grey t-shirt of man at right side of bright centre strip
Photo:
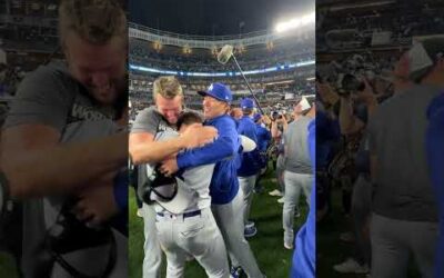
[[[289,123],[284,132],[285,170],[296,173],[313,173],[309,151],[309,123],[311,118],[301,117]]]

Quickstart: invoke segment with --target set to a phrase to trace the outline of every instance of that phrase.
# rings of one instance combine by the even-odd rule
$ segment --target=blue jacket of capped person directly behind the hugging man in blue
[[[251,117],[244,116],[239,120],[238,132],[258,145],[256,125]],[[239,177],[253,176],[261,170],[261,155],[258,148],[250,152],[243,152],[241,156],[241,166],[238,169]]]

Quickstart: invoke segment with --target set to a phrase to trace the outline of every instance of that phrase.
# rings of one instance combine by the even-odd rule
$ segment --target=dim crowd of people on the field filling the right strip
[[[442,95],[443,49],[442,38],[427,38],[408,51],[336,56],[317,67],[317,220],[332,215],[341,191],[349,231],[337,240],[354,249],[333,266],[337,272],[406,277],[414,259],[422,277],[443,276],[432,160],[440,148],[424,147]]]

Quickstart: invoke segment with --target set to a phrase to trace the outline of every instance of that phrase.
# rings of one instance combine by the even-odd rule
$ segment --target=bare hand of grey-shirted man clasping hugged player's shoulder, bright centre
[[[186,131],[181,135],[181,141],[186,149],[202,147],[205,143],[213,142],[218,136],[218,130],[213,127],[202,127],[199,123],[191,125]]]

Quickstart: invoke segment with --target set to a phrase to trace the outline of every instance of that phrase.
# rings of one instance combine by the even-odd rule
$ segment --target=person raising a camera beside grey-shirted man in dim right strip
[[[371,248],[367,228],[371,185],[365,126],[367,118],[372,116],[377,107],[379,96],[385,95],[385,91],[376,93],[376,88],[381,88],[377,85],[379,80],[370,82],[366,78],[362,78],[360,81],[359,78],[351,73],[343,76],[340,88],[334,89],[327,83],[317,85],[320,95],[324,97],[323,99],[336,99],[337,101],[334,106],[343,142],[342,148],[329,166],[329,172],[336,182],[341,183],[344,211],[346,214],[351,211],[353,217],[352,230],[354,232],[343,232],[341,239],[346,241],[356,240],[354,257],[334,266],[334,269],[339,272],[369,271]],[[319,128],[321,129],[323,117],[319,118]],[[329,185],[325,186],[324,191],[326,191],[326,198],[330,199],[330,193],[327,193],[330,192]]]

